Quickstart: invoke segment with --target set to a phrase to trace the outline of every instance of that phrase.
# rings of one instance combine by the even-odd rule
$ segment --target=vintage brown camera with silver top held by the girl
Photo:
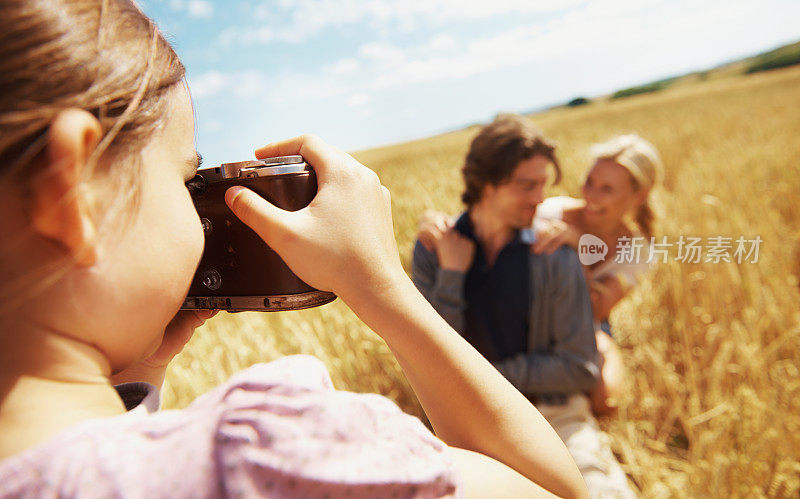
[[[245,186],[279,208],[296,211],[317,193],[317,177],[301,156],[225,163],[186,183],[205,233],[205,249],[182,309],[229,312],[299,310],[336,299],[312,288],[231,212],[225,191]]]

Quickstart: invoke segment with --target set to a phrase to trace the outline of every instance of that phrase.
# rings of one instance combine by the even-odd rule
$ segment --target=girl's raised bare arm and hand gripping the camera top
[[[286,212],[233,187],[226,194],[233,212],[301,279],[335,292],[386,341],[445,443],[490,456],[555,494],[586,496],[574,461],[541,414],[403,271],[389,193],[377,175],[315,137],[256,151],[259,158],[290,154],[316,169],[319,189],[309,206]]]

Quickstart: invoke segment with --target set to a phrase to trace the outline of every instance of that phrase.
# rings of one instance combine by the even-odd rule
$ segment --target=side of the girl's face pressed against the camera
[[[103,240],[98,263],[77,281],[94,302],[90,329],[97,337],[90,341],[114,370],[158,347],[203,251],[203,230],[184,184],[199,160],[192,104],[183,85],[168,98],[162,129],[141,152],[138,209],[113,240]]]

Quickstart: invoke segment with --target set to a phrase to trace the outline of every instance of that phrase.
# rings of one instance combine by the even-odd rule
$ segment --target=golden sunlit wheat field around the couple
[[[681,263],[675,250],[614,310],[630,386],[601,424],[645,497],[797,497],[800,491],[800,68],[676,85],[534,115],[559,142],[579,195],[588,147],[636,132],[666,166],[656,228],[760,236],[757,263]],[[356,153],[392,192],[410,271],[417,220],[461,210],[459,168],[476,128]],[[377,392],[422,416],[385,344],[347,307],[221,313],[170,367],[168,408],[256,362],[319,357],[339,389]],[[453,394],[457,396],[457,394]]]

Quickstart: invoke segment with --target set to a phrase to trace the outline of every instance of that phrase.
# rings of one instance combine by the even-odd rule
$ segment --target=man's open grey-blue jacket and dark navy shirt
[[[457,230],[474,240],[465,217]],[[572,248],[537,255],[517,237],[487,268],[478,245],[471,268],[458,272],[417,241],[412,274],[436,311],[522,393],[557,402],[597,382],[589,290]]]

